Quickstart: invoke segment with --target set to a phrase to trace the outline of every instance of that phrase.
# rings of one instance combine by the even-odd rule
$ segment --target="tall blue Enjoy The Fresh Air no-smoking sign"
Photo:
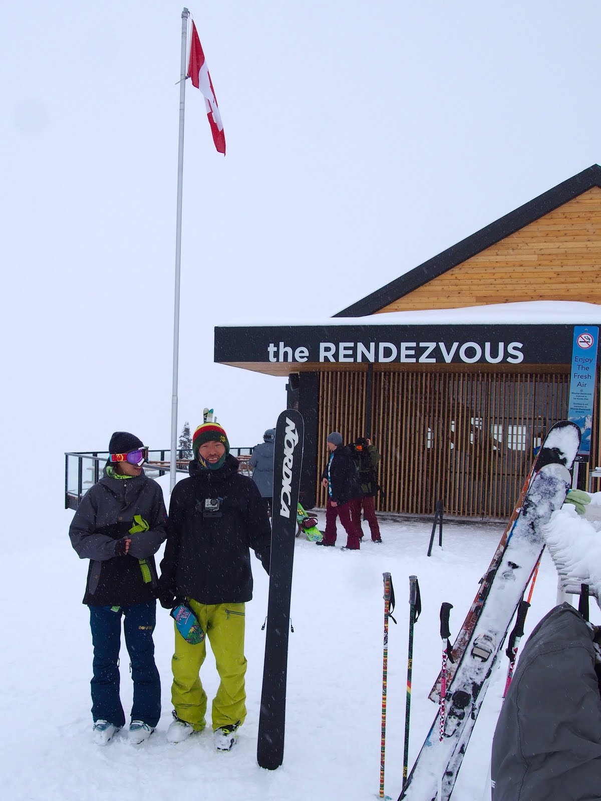
[[[579,425],[582,433],[580,449],[576,457],[578,461],[588,461],[591,455],[598,340],[599,328],[594,325],[575,325],[567,418]]]

